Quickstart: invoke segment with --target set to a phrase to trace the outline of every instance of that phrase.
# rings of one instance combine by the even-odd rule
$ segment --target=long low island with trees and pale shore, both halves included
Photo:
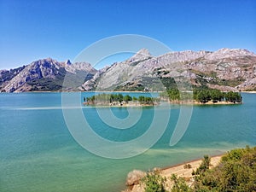
[[[172,104],[195,104],[195,105],[229,105],[241,104],[242,96],[239,92],[224,92],[214,89],[194,89],[193,91],[180,91],[168,89],[160,92],[159,97],[150,96],[129,96],[121,93],[107,94],[100,93],[94,96],[85,97],[84,105],[106,106],[106,107],[134,107],[134,106],[155,106],[160,102]]]

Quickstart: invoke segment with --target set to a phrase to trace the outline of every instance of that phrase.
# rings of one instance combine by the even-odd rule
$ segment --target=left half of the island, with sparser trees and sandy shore
[[[109,107],[154,106],[160,104],[160,98],[150,96],[123,96],[121,93],[101,93],[95,96],[84,97],[83,104]]]

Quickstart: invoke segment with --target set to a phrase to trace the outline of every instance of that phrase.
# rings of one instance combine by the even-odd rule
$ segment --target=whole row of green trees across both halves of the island
[[[241,103],[242,97],[240,93],[237,92],[222,92],[220,90],[210,90],[210,89],[194,89],[193,92],[183,92],[177,89],[169,89],[165,92],[160,93],[161,99],[168,99],[171,102],[201,102],[207,103],[212,101],[213,103],[217,102],[232,102],[232,103]],[[131,97],[129,95],[123,96],[119,94],[98,94],[95,96],[84,97],[84,102],[86,104],[103,104],[103,105],[116,105],[124,104],[128,102],[139,102],[142,105],[154,105],[155,103],[160,102],[160,98],[153,98],[150,96],[138,96]]]

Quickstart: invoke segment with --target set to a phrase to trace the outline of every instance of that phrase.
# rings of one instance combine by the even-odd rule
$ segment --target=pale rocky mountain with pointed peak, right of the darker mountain
[[[255,71],[256,55],[246,49],[188,50],[156,57],[142,49],[130,59],[114,63],[83,87],[84,90],[161,90],[157,81],[163,80],[168,86],[171,79],[186,77],[195,86],[254,90]]]

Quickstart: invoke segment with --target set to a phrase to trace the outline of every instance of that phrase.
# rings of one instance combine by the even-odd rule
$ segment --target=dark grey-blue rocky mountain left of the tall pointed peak
[[[96,69],[89,63],[71,64],[70,61],[58,62],[51,58],[33,61],[24,67],[1,71],[0,90],[2,92],[61,90],[65,75],[73,73],[76,76],[79,72],[88,73],[87,78],[92,78]]]

